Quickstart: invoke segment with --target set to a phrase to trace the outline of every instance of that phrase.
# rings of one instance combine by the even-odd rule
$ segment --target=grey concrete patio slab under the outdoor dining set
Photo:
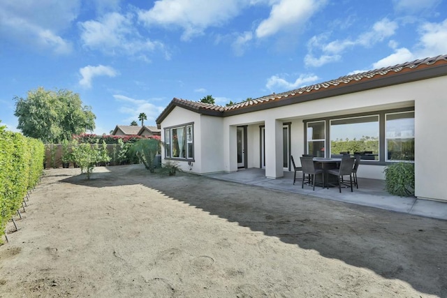
[[[299,173],[300,174],[300,173]],[[354,188],[351,193],[349,188],[343,188],[339,193],[338,188],[321,188],[316,186],[312,191],[311,186],[301,188],[301,182],[293,185],[293,172],[284,172],[284,177],[279,179],[268,179],[265,170],[258,168],[240,169],[237,172],[220,172],[206,174],[206,177],[233,181],[240,184],[250,184],[264,188],[309,195],[316,198],[336,200],[367,207],[386,209],[404,214],[425,216],[447,220],[447,203],[432,200],[421,200],[418,198],[402,198],[390,195],[385,191],[385,181],[377,179],[358,178],[359,188]]]

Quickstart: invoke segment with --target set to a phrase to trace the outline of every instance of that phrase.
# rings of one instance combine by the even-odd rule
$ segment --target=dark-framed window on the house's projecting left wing
[[[165,128],[166,158],[193,159],[193,124]]]

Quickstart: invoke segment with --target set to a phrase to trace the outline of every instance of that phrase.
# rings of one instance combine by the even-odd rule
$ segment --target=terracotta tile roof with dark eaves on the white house
[[[432,58],[419,59],[395,66],[369,70],[364,73],[356,73],[339,77],[319,84],[286,91],[280,94],[270,94],[242,103],[236,103],[226,107],[201,103],[200,101],[174,98],[156,119],[157,124],[165,119],[176,107],[212,116],[226,117],[234,114],[265,110],[271,107],[302,103],[309,100],[339,96],[368,89],[392,86],[431,77],[447,75],[447,55]]]

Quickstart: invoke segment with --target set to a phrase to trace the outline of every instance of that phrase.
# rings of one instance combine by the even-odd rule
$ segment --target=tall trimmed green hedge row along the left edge
[[[0,241],[6,223],[43,171],[43,142],[0,127]]]

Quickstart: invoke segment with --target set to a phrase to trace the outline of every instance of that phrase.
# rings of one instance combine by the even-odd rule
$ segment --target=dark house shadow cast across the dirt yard
[[[108,171],[94,173],[91,180],[74,176],[61,182],[104,191],[110,186],[142,184],[286,244],[447,297],[447,221],[193,174],[168,177],[137,166],[108,167]]]

